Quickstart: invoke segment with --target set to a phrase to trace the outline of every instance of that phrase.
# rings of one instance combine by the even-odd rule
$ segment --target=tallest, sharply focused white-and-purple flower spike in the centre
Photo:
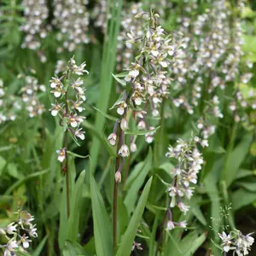
[[[171,35],[166,36],[164,29],[157,25],[159,15],[143,12],[136,15],[136,18],[145,20],[146,26],[139,38],[133,31],[128,33],[129,40],[126,41],[126,45],[132,47],[134,44],[139,44],[140,53],[135,61],[131,62],[131,66],[126,68],[128,72],[125,79],[121,82],[118,79],[121,84],[125,84],[126,90],[120,100],[113,105],[120,118],[114,126],[113,133],[108,137],[109,143],[115,145],[118,127],[120,127],[122,141],[119,155],[122,158],[130,154],[129,148],[125,144],[128,113],[132,113],[139,130],[148,130],[145,132],[146,142],[153,142],[155,129],[154,126],[148,124],[146,114],[147,112],[152,113],[154,118],[159,116],[161,102],[169,95],[169,87],[172,82],[167,74],[167,67],[175,64],[175,53],[182,47],[181,42],[172,44]],[[136,149],[134,139],[131,146]],[[119,180],[120,174],[118,173],[117,176]]]

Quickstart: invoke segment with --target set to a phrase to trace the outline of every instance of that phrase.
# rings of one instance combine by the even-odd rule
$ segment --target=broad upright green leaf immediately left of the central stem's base
[[[108,212],[92,175],[90,175],[90,195],[96,255],[113,256],[113,237]]]

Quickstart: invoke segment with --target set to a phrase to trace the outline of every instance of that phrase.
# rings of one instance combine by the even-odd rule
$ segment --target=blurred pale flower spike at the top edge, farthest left
[[[21,3],[24,8],[26,22],[20,26],[20,30],[25,32],[25,38],[21,44],[22,48],[39,49],[41,47],[40,38],[46,38],[50,26],[46,25],[49,15],[47,1],[45,0],[23,0]],[[42,59],[46,61],[46,59]]]

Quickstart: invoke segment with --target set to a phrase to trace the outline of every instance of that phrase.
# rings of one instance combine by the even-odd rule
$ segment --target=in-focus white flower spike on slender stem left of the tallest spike
[[[78,137],[81,140],[85,138],[84,131],[80,128],[80,124],[85,119],[80,114],[84,111],[83,103],[86,100],[84,81],[80,78],[84,73],[88,73],[85,66],[85,62],[78,66],[74,59],[71,59],[61,78],[55,76],[50,80],[51,93],[55,96],[55,103],[49,110],[53,116],[59,114],[60,124],[67,127],[67,131],[73,134],[75,140]],[[67,148],[57,150],[58,160],[61,162],[66,158],[66,150]]]

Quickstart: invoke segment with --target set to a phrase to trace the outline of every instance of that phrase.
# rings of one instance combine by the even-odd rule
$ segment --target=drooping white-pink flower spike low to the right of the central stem
[[[197,148],[197,144],[201,147],[207,147],[207,140],[201,140],[199,137],[193,137],[189,141],[177,140],[177,146],[172,148],[169,146],[166,156],[175,158],[177,166],[172,169],[173,182],[167,189],[170,195],[170,207],[168,207],[167,230],[174,229],[175,225],[185,227],[186,223],[175,223],[172,221],[172,208],[178,207],[181,212],[186,214],[189,206],[183,203],[183,198],[190,199],[194,193],[194,187],[197,183],[197,174],[201,170],[203,158]]]

